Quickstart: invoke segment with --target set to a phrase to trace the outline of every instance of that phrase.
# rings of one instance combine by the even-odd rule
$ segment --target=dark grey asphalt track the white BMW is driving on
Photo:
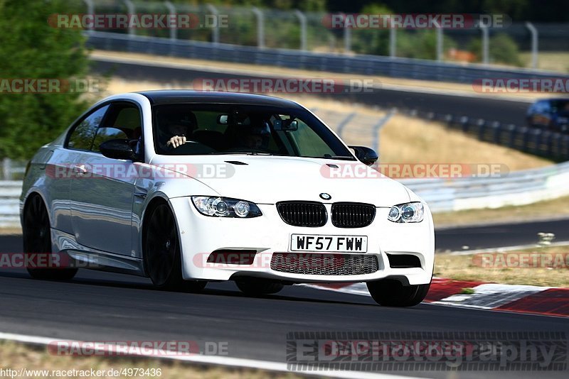
[[[565,226],[567,221],[557,221]],[[547,223],[437,232],[437,248],[479,240],[513,241],[553,227]],[[515,230],[519,230],[516,234]],[[560,227],[560,229],[563,229]],[[553,230],[553,229],[551,229]],[[510,239],[507,239],[513,233]],[[516,239],[519,238],[519,239]],[[569,238],[568,238],[569,239]],[[502,245],[503,246],[503,245]],[[21,251],[21,237],[1,236],[0,252]],[[83,341],[205,341],[228,344],[234,358],[285,362],[287,331],[563,331],[567,319],[420,304],[379,307],[369,297],[286,287],[278,295],[246,297],[233,282],[210,283],[202,294],[161,292],[149,280],[80,270],[71,282],[31,279],[25,270],[0,270],[0,331]],[[395,372],[397,374],[397,372]],[[401,374],[401,373],[399,373]],[[408,373],[447,378],[444,371]],[[459,373],[459,378],[566,378],[567,372]]]

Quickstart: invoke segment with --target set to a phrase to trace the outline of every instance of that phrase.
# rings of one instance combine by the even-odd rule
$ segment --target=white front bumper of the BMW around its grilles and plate
[[[330,220],[326,225],[317,228],[290,226],[282,221],[274,204],[257,205],[261,209],[262,216],[252,219],[233,219],[203,216],[193,207],[189,197],[171,199],[179,228],[185,279],[230,280],[238,276],[248,276],[301,283],[368,282],[383,278],[398,278],[410,285],[427,284],[431,280],[435,236],[428,207],[425,207],[425,219],[420,223],[393,223],[387,219],[389,209],[378,208],[371,225],[345,229],[333,226]],[[330,207],[326,204],[329,214]],[[378,270],[363,275],[314,275],[273,270],[270,267],[272,254],[291,252],[289,246],[291,234],[368,236],[368,251],[362,254],[375,255],[378,258]],[[250,265],[208,263],[208,256],[213,251],[219,250],[245,250],[257,253]],[[390,268],[386,254],[417,256],[421,267]]]

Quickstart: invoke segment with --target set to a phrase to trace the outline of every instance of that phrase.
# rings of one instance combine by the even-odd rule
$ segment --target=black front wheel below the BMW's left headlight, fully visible
[[[166,204],[159,204],[149,213],[144,233],[144,265],[147,274],[160,290],[199,292],[207,282],[184,280],[178,227]]]

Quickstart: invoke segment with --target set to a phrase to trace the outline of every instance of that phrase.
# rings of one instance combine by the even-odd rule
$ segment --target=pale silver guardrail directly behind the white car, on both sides
[[[569,162],[511,172],[504,177],[406,179],[433,212],[523,205],[569,195]],[[0,226],[18,226],[21,182],[0,181]]]

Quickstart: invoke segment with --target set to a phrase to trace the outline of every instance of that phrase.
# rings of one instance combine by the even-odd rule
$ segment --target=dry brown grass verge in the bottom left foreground
[[[115,357],[70,357],[53,356],[45,348],[31,347],[16,344],[11,341],[0,341],[0,356],[2,368],[19,370],[105,370],[111,368],[161,368],[161,375],[154,378],[179,379],[179,378],[206,378],[206,379],[262,379],[262,378],[300,378],[292,373],[271,373],[262,370],[249,370],[239,368],[204,367],[196,364],[184,364],[179,362],[157,361],[153,359],[115,358]],[[56,375],[51,375],[56,378]],[[87,375],[87,377],[90,377]],[[42,375],[27,375],[26,378],[46,378]],[[75,376],[75,378],[80,378]],[[94,377],[93,377],[94,378]],[[117,378],[116,376],[97,376],[97,378]],[[121,378],[126,378],[121,376]],[[144,378],[152,378],[144,376]]]

